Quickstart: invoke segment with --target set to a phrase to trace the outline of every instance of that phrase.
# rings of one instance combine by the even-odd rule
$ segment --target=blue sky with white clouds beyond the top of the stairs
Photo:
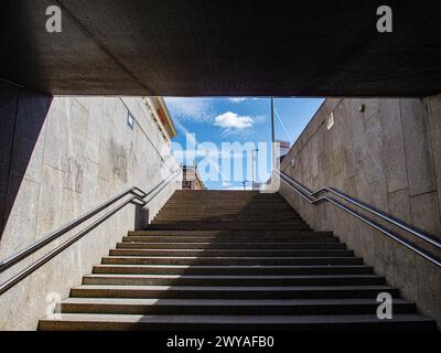
[[[165,103],[178,128],[174,154],[183,164],[197,163],[208,189],[236,190],[245,179],[269,178],[270,98],[169,97]],[[322,98],[276,98],[276,138],[292,145],[322,103]],[[232,152],[228,142],[235,143]],[[259,152],[252,163],[254,149]]]

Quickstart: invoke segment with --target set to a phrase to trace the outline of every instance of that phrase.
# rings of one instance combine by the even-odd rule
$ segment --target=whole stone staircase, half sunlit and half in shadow
[[[394,319],[378,320],[379,292]],[[179,191],[41,330],[435,329],[331,233],[278,194]]]

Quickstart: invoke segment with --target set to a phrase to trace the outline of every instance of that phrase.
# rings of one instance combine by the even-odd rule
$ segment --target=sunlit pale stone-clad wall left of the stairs
[[[54,97],[51,105],[50,97],[33,94],[30,98],[29,92],[19,97],[17,88],[1,88],[2,121],[11,126],[8,131],[12,135],[9,148],[1,153],[1,197],[9,197],[2,200],[1,211],[4,214],[9,203],[9,213],[3,217],[0,259],[126,189],[137,185],[147,190],[179,168],[142,98]],[[149,99],[148,103],[152,104]],[[127,125],[128,109],[136,119],[133,129]],[[179,182],[172,183],[151,202],[150,220],[179,188]],[[0,330],[36,329],[37,320],[53,309],[56,298],[67,297],[69,288],[79,285],[83,275],[90,272],[127,231],[140,226],[136,214],[142,212],[126,206],[1,296]],[[2,274],[0,280],[47,249]]]

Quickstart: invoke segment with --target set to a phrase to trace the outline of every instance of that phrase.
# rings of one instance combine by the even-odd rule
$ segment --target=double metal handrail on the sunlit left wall
[[[18,254],[9,257],[8,259],[3,260],[0,263],[0,274],[12,267],[13,265],[22,261],[23,259],[28,258],[32,254],[36,253],[37,250],[42,249],[46,245],[51,244],[55,239],[60,238],[67,232],[72,231],[73,228],[77,227],[78,225],[83,224],[84,222],[90,220],[94,215],[98,214],[99,212],[108,208],[110,205],[115,204],[119,200],[123,199],[127,195],[132,195],[130,199],[126,200],[123,203],[118,205],[116,208],[111,210],[110,212],[106,213],[104,216],[95,221],[93,224],[88,225],[86,228],[64,242],[63,244],[58,245],[56,248],[44,255],[42,258],[7,280],[6,282],[0,285],[0,296],[3,295],[6,291],[14,287],[17,284],[22,281],[24,278],[26,278],[29,275],[34,272],[36,269],[42,267],[44,264],[46,264],[49,260],[54,258],[56,255],[68,248],[71,245],[75,244],[77,240],[83,238],[85,235],[90,233],[93,229],[95,229],[98,225],[100,225],[103,222],[111,217],[114,214],[119,212],[121,208],[123,208],[126,205],[129,203],[137,204],[139,206],[146,206],[151,200],[153,200],[169,183],[179,174],[179,171],[175,171],[171,175],[169,175],[166,179],[163,181],[159,182],[154,186],[150,188],[148,191],[142,191],[139,188],[131,188],[126,190],[125,192],[111,197],[110,200],[106,201],[105,203],[100,204],[99,206],[95,207],[94,210],[87,212],[83,216],[69,222],[68,224],[64,225],[57,231],[52,232],[47,236],[43,237],[39,242],[35,242],[34,244],[28,246],[23,250],[19,252]],[[149,196],[149,197],[148,197]],[[148,197],[148,200],[146,200]]]

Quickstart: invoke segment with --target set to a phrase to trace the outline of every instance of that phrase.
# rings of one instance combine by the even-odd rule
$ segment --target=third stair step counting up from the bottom
[[[80,298],[173,298],[173,299],[319,299],[377,298],[388,292],[398,297],[389,286],[100,286],[82,285],[71,290],[71,297]]]

